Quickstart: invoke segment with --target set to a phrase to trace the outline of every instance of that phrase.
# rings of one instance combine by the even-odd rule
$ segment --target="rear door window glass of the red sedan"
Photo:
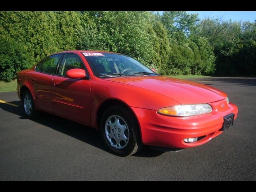
[[[56,69],[61,56],[62,54],[56,54],[46,57],[44,60],[38,63],[36,66],[36,71],[48,74],[56,74]]]

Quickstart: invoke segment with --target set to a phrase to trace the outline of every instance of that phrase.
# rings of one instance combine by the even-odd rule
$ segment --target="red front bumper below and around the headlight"
[[[188,148],[200,146],[222,133],[220,129],[223,117],[234,113],[234,120],[238,114],[236,105],[226,100],[209,103],[212,106],[210,114],[188,117],[164,116],[155,110],[131,107],[140,124],[142,142],[145,145],[169,148]],[[226,105],[223,107],[223,104]],[[200,137],[202,139],[186,143],[185,138]]]

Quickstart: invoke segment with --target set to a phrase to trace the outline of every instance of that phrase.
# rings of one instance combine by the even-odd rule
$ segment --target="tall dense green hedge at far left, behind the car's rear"
[[[78,12],[0,12],[0,18],[0,80],[10,81],[42,58],[76,48]]]

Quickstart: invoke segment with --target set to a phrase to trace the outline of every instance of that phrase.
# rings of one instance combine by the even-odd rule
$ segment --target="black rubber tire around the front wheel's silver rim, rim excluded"
[[[118,115],[122,117],[129,129],[129,141],[127,146],[123,149],[114,148],[113,146],[110,145],[108,139],[106,138],[106,120],[112,115]],[[127,108],[123,108],[122,106],[111,106],[103,113],[102,118],[100,120],[100,132],[102,139],[104,143],[108,146],[110,151],[118,156],[128,156],[134,151],[134,148],[136,147],[136,144],[138,142],[138,134],[136,134],[135,132],[136,129],[138,129],[138,126],[134,121],[133,114],[131,114],[131,112]]]

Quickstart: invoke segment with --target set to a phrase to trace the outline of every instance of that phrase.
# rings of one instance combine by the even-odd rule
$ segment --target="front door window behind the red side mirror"
[[[76,69],[76,68],[85,69],[82,60],[76,54],[67,53],[62,60],[62,66],[60,68],[60,76],[67,77],[66,72],[70,69]]]

